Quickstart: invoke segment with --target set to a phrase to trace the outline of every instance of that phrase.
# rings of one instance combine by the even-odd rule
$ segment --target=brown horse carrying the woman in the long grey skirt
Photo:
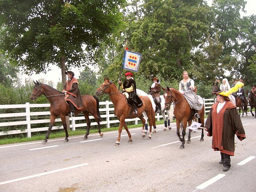
[[[176,89],[167,87],[164,91],[164,98],[165,98],[165,109],[168,110],[170,108],[170,104],[174,102],[174,116],[176,118],[176,126],[177,126],[177,135],[182,142],[180,149],[184,149],[185,144],[185,134],[186,134],[186,127],[187,123],[188,126],[191,125],[192,120],[194,119],[194,115],[192,109],[190,108],[186,98]],[[202,127],[204,127],[204,105],[201,110],[198,111],[200,119],[198,122],[201,123]],[[182,123],[180,125],[180,123]],[[182,138],[180,137],[180,126],[182,126]],[[190,143],[190,132],[188,132],[188,143]],[[202,134],[200,141],[204,140],[204,130],[202,129]]]

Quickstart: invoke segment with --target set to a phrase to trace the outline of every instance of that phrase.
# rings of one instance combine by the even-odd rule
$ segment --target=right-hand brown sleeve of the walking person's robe
[[[241,118],[239,117],[236,108],[230,110],[230,113],[231,113],[230,115],[231,115],[232,122],[233,122],[232,126],[234,127],[235,134],[236,134],[237,138],[240,141],[242,141],[243,139],[246,138],[246,136],[245,136],[245,131],[244,131],[244,127],[243,127]]]

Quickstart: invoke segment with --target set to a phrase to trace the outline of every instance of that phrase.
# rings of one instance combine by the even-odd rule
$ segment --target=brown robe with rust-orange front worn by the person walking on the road
[[[218,102],[212,106],[206,119],[207,136],[212,136],[212,148],[214,151],[234,156],[235,134],[239,140],[246,138],[242,121],[236,106],[232,102],[226,101],[219,113],[217,113],[217,106]]]

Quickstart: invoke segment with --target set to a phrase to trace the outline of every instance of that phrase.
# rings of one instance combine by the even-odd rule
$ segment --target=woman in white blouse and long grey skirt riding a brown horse
[[[183,94],[191,108],[195,110],[195,118],[199,118],[198,110],[201,110],[204,104],[203,99],[196,95],[194,80],[190,79],[187,71],[182,72],[183,79],[180,81],[179,92]]]

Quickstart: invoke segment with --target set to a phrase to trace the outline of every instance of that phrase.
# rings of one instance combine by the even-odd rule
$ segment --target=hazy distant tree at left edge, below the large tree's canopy
[[[8,58],[0,54],[0,83],[4,86],[12,86],[16,81],[18,69],[13,66]]]

